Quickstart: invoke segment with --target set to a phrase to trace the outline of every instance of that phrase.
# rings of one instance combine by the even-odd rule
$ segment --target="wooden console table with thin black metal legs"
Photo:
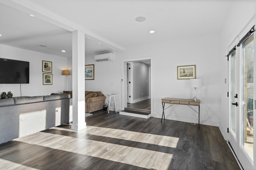
[[[161,119],[161,123],[162,123],[162,120],[163,120],[163,116],[164,116],[164,110],[171,107],[167,107],[167,108],[164,108],[165,104],[182,104],[182,105],[187,105],[188,107],[190,106],[198,106],[198,112],[193,109],[192,107],[190,107],[191,109],[193,109],[196,113],[198,113],[198,129],[199,129],[199,126],[200,126],[200,123],[199,123],[199,118],[200,118],[200,100],[197,100],[197,101],[194,101],[194,100],[190,100],[190,99],[174,99],[174,98],[162,98],[162,106],[163,106],[163,113],[162,113],[162,119]],[[165,119],[165,117],[164,117]]]

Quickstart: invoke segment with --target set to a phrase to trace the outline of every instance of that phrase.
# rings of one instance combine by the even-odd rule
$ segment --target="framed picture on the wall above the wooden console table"
[[[177,66],[177,79],[192,79],[196,78],[196,65]]]

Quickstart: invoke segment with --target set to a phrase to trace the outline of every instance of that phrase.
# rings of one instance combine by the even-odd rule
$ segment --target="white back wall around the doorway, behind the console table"
[[[121,105],[121,60],[154,56],[154,117],[162,116],[161,99],[193,98],[193,88],[189,80],[177,80],[177,66],[196,64],[196,76],[202,78],[203,87],[198,89],[201,100],[200,123],[219,125],[220,114],[220,33],[212,33],[199,37],[173,40],[164,43],[133,47],[115,53],[114,61],[94,61],[93,55],[86,55],[86,64],[95,64],[95,80],[86,80],[86,90],[100,90],[105,95],[118,94]],[[114,85],[113,83],[114,82]],[[112,85],[111,85],[112,84]],[[120,108],[119,108],[120,109]],[[197,109],[197,107],[195,107]],[[198,114],[188,106],[174,105],[165,111],[167,119],[196,123]]]

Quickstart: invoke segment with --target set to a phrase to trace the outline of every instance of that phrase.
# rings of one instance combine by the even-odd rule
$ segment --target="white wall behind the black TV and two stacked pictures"
[[[0,58],[30,62],[30,83],[21,84],[22,96],[50,95],[65,90],[65,76],[62,75],[62,70],[67,69],[65,57],[0,45]],[[43,85],[42,61],[52,61],[52,85]],[[9,91],[13,97],[20,96],[20,84],[0,84],[0,94]]]

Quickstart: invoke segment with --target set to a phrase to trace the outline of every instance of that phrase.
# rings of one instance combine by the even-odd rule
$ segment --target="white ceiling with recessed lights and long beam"
[[[125,50],[220,32],[236,1],[0,0],[0,44],[71,57],[71,31],[79,29],[87,54]],[[146,21],[135,21],[138,16]]]

